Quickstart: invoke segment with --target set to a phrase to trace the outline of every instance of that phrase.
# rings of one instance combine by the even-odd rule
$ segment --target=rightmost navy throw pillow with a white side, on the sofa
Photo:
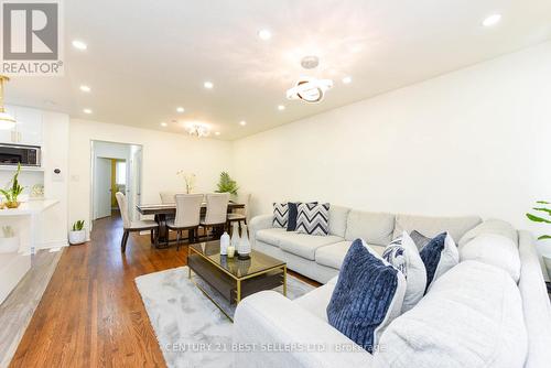
[[[426,269],[426,288],[439,277],[460,262],[460,252],[452,237],[447,232],[442,232],[432,238],[419,252]]]

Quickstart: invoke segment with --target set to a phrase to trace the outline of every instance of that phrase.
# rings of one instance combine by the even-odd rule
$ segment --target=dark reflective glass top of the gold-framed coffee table
[[[193,249],[190,255],[198,253],[237,279],[285,266],[284,261],[256,250],[251,251],[250,259],[247,260],[238,259],[237,253],[234,258],[220,256],[219,240],[194,243],[190,248]]]

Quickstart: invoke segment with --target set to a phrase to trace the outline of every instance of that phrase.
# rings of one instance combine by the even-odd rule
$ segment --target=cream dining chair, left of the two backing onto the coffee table
[[[176,216],[166,221],[166,227],[176,231],[176,250],[180,250],[180,239],[182,231],[188,231],[188,242],[195,242],[198,236],[201,223],[201,205],[203,204],[203,194],[176,194]]]

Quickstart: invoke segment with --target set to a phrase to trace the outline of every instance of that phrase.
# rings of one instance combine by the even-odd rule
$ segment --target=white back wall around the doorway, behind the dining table
[[[142,203],[159,203],[161,191],[182,191],[184,183],[176,176],[179,170],[197,175],[195,192],[213,192],[220,172],[231,172],[230,142],[74,119],[69,147],[71,221],[85,219],[89,224],[93,140],[143,147]]]

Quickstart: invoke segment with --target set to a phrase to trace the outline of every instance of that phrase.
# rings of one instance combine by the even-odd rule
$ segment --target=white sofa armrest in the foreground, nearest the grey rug
[[[367,367],[372,356],[325,321],[274,291],[239,303],[235,367]]]

